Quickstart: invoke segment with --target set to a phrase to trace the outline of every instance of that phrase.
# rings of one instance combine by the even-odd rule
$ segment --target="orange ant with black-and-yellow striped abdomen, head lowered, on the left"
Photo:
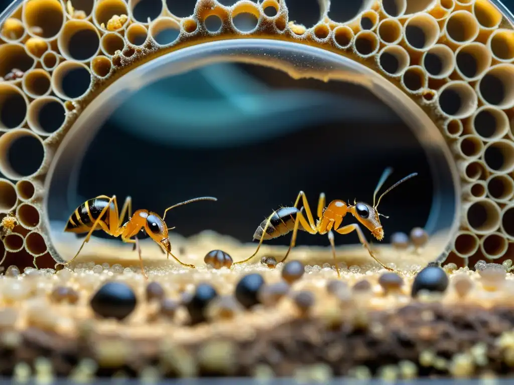
[[[118,214],[118,203],[115,195],[112,197],[99,195],[96,198],[90,199],[77,207],[66,223],[66,227],[64,228],[65,232],[76,234],[87,232],[87,236],[82,242],[82,245],[75,257],[66,263],[62,263],[62,265],[70,264],[78,257],[82,247],[84,247],[84,244],[89,241],[91,234],[93,234],[95,230],[103,230],[105,233],[113,237],[121,236],[121,240],[123,242],[135,243],[139,254],[139,262],[141,263],[141,272],[145,277],[146,275],[144,274],[141,249],[137,239],[137,234],[140,231],[146,232],[146,234],[148,234],[160,246],[162,251],[167,253],[168,259],[170,259],[171,255],[182,266],[195,268],[194,265],[183,263],[171,253],[171,243],[168,231],[175,227],[169,228],[166,225],[166,222],[164,222],[164,218],[166,218],[166,213],[172,208],[197,201],[217,201],[217,199],[213,197],[200,197],[177,203],[164,210],[162,218],[159,217],[158,214],[144,209],[137,210],[134,215],[132,215],[131,197],[127,197],[125,199],[120,214]],[[122,225],[122,221],[125,218],[127,210],[128,221]],[[132,237],[135,237],[135,239],[131,239]]]

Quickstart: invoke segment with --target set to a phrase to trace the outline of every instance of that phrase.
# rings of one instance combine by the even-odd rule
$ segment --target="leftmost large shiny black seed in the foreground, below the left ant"
[[[122,282],[107,282],[91,298],[91,309],[100,317],[122,320],[136,307],[136,295]]]

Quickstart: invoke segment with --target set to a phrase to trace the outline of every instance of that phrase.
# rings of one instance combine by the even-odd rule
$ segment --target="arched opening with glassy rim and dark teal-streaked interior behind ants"
[[[108,104],[101,102],[107,98]],[[456,229],[456,170],[435,125],[379,75],[316,48],[229,41],[163,56],[107,88],[65,141],[46,197],[52,243],[64,260],[82,241],[63,234],[66,220],[97,195],[115,194],[120,208],[131,195],[134,210],[159,214],[179,201],[215,196],[218,202],[171,211],[168,225],[177,226],[172,233],[213,230],[246,243],[273,209],[292,205],[299,190],[314,216],[320,192],[328,202],[372,203],[387,166],[394,174],[382,191],[411,172],[419,176],[380,204],[391,217],[382,219],[382,243],[394,232],[425,226],[433,242],[426,261],[416,257],[423,264],[437,257]],[[348,215],[343,224],[354,222]],[[95,237],[112,238],[101,232]],[[289,241],[290,234],[266,244]],[[81,255],[98,255],[93,243]],[[358,244],[357,234],[336,235],[336,244]],[[328,239],[302,232],[297,245],[326,247]],[[143,254],[155,249],[161,258],[157,246],[145,247],[152,251]]]

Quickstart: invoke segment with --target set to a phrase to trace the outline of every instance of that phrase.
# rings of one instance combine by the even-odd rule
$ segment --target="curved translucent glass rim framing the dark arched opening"
[[[458,230],[461,216],[461,198],[458,194],[460,177],[442,133],[421,107],[380,74],[352,59],[321,48],[265,39],[234,39],[187,47],[145,63],[125,74],[122,78],[123,81],[119,79],[108,86],[80,114],[55,154],[45,181],[43,204],[47,209],[44,210],[43,215],[44,225],[49,230],[51,229],[49,195],[55,192],[55,190],[51,190],[51,187],[58,188],[59,195],[63,198],[64,196],[69,198],[75,193],[78,182],[78,172],[75,170],[80,167],[87,146],[93,140],[101,122],[105,121],[126,98],[143,86],[166,76],[183,73],[215,62],[244,62],[245,60],[268,67],[273,67],[273,63],[280,63],[280,66],[277,65],[277,69],[286,71],[293,78],[307,76],[315,79],[359,83],[392,108],[410,126],[431,162],[434,199],[427,224],[435,226],[436,222],[445,223],[445,226],[440,226],[440,228],[445,228],[443,234],[437,234],[434,239],[437,238],[437,242],[445,244],[452,241]],[[336,71],[335,68],[337,68]],[[109,103],[105,103],[106,100]],[[94,113],[91,113],[92,111]],[[84,126],[89,128],[82,129]],[[77,140],[79,137],[80,140]],[[443,181],[443,177],[439,175],[438,171],[448,168],[446,181]],[[453,190],[451,196],[450,194],[441,194],[442,191],[450,189]],[[68,209],[64,205],[70,202],[66,201],[68,199],[52,203],[52,212],[56,208],[56,204],[61,205],[57,211]],[[454,210],[448,210],[450,204],[454,206]],[[449,231],[448,228],[450,228]]]

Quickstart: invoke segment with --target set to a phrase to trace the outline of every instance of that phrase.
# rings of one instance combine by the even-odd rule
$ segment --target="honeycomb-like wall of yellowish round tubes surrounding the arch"
[[[0,28],[0,110],[8,109],[0,114],[0,146],[7,153],[17,139],[27,138],[45,153],[28,175],[14,171],[8,157],[0,160],[0,211],[30,232],[18,233],[26,240],[20,253],[58,258],[47,247],[39,195],[55,150],[95,95],[149,55],[241,35],[329,49],[408,94],[443,133],[460,172],[463,221],[452,240],[453,253],[467,261],[479,251],[489,259],[507,252],[514,240],[514,39],[510,23],[487,0],[419,6],[377,0],[365,3],[369,9],[350,22],[337,20],[331,12],[335,4],[325,1],[313,26],[290,20],[287,7],[295,4],[287,0],[229,7],[198,0],[184,17],[174,14],[170,2],[151,2],[150,20],[135,16],[138,2],[111,3],[94,0],[78,9],[85,4],[30,0]],[[254,19],[253,29],[238,29],[234,20],[241,15]],[[218,18],[221,27],[211,31],[208,18]],[[80,46],[77,39],[84,40]],[[77,93],[63,85],[70,72],[84,79]]]

